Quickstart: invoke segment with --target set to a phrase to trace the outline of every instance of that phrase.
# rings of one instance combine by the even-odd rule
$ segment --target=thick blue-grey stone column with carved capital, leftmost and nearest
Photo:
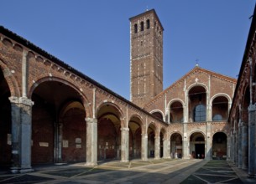
[[[27,97],[9,98],[12,108],[12,160],[11,172],[33,171],[31,167],[32,105]]]

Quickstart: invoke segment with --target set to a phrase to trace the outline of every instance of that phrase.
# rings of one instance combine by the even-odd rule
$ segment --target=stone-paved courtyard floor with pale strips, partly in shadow
[[[85,163],[34,166],[34,172],[0,172],[0,183],[256,183],[228,161],[149,160],[109,161],[88,167]]]

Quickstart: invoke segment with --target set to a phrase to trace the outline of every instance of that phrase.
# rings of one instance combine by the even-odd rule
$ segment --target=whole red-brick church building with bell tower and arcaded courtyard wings
[[[154,9],[130,18],[130,100],[0,27],[0,165],[26,172],[41,163],[152,157],[227,159],[248,168],[239,154],[254,159],[255,142],[245,153],[237,142],[255,132],[254,124],[246,128],[254,116],[240,112],[241,100],[245,109],[254,103],[246,63],[255,60],[254,19],[239,85],[196,65],[163,89],[164,28]]]

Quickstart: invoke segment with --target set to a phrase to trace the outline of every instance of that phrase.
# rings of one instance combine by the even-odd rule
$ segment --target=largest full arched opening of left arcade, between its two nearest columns
[[[32,164],[86,161],[86,112],[76,89],[44,81],[32,100]]]

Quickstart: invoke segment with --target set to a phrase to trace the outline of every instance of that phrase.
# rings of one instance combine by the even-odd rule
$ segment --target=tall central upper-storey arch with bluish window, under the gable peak
[[[198,85],[189,91],[190,122],[206,121],[206,89]]]

